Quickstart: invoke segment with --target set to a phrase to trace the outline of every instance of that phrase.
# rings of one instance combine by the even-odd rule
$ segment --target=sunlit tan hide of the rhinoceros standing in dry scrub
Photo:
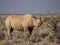
[[[11,36],[11,32],[10,32],[11,27],[14,30],[22,30],[22,28],[24,28],[23,31],[26,32],[28,30],[27,27],[39,26],[40,23],[41,23],[40,19],[32,18],[31,14],[8,16],[5,20],[5,26],[7,29],[8,36]]]

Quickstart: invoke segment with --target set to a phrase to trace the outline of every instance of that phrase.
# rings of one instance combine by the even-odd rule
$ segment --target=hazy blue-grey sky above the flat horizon
[[[0,0],[0,14],[60,13],[60,0]]]

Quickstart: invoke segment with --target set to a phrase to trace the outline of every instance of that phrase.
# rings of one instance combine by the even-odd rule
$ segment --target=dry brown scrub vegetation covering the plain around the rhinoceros
[[[13,31],[12,36],[5,39],[4,21],[7,16],[0,15],[0,45],[60,45],[60,15],[38,15],[42,24],[33,28],[31,36],[29,33],[23,35],[21,31]]]

